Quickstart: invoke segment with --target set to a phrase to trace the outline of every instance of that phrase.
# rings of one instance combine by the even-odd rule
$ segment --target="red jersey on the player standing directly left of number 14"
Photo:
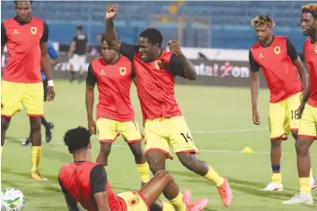
[[[107,64],[102,57],[92,61],[88,68],[86,83],[89,86],[97,83],[98,86],[97,119],[135,120],[130,99],[133,77],[131,62],[127,57],[120,56],[114,65]]]

